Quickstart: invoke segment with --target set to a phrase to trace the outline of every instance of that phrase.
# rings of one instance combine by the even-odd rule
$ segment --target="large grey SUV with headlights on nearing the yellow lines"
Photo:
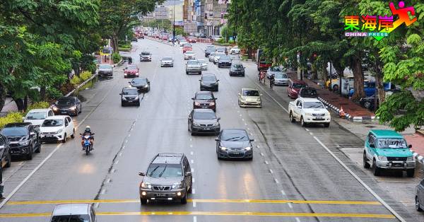
[[[141,204],[147,200],[181,201],[192,193],[192,169],[184,153],[158,153],[148,165],[140,183]]]

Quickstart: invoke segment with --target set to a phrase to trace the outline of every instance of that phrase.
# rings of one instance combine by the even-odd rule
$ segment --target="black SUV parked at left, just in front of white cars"
[[[33,153],[41,151],[39,133],[29,122],[6,124],[0,134],[7,137],[12,156],[25,156],[27,160],[31,160]]]

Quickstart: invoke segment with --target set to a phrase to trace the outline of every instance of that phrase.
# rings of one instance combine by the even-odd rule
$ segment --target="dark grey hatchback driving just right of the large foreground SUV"
[[[216,155],[222,158],[253,159],[254,139],[249,139],[245,129],[223,129],[216,141]]]

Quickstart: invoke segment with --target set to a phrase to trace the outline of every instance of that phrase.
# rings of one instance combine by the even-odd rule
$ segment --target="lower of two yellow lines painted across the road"
[[[98,216],[281,216],[281,217],[339,217],[339,218],[395,218],[391,214],[346,214],[346,213],[292,213],[292,212],[247,212],[247,211],[98,211]],[[52,213],[0,214],[0,218],[49,217]]]

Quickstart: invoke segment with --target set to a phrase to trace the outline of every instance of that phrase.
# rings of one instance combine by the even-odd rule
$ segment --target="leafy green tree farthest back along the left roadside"
[[[140,24],[139,16],[153,11],[163,0],[102,0],[100,27],[102,36],[112,40],[114,52],[118,52],[119,36]]]

